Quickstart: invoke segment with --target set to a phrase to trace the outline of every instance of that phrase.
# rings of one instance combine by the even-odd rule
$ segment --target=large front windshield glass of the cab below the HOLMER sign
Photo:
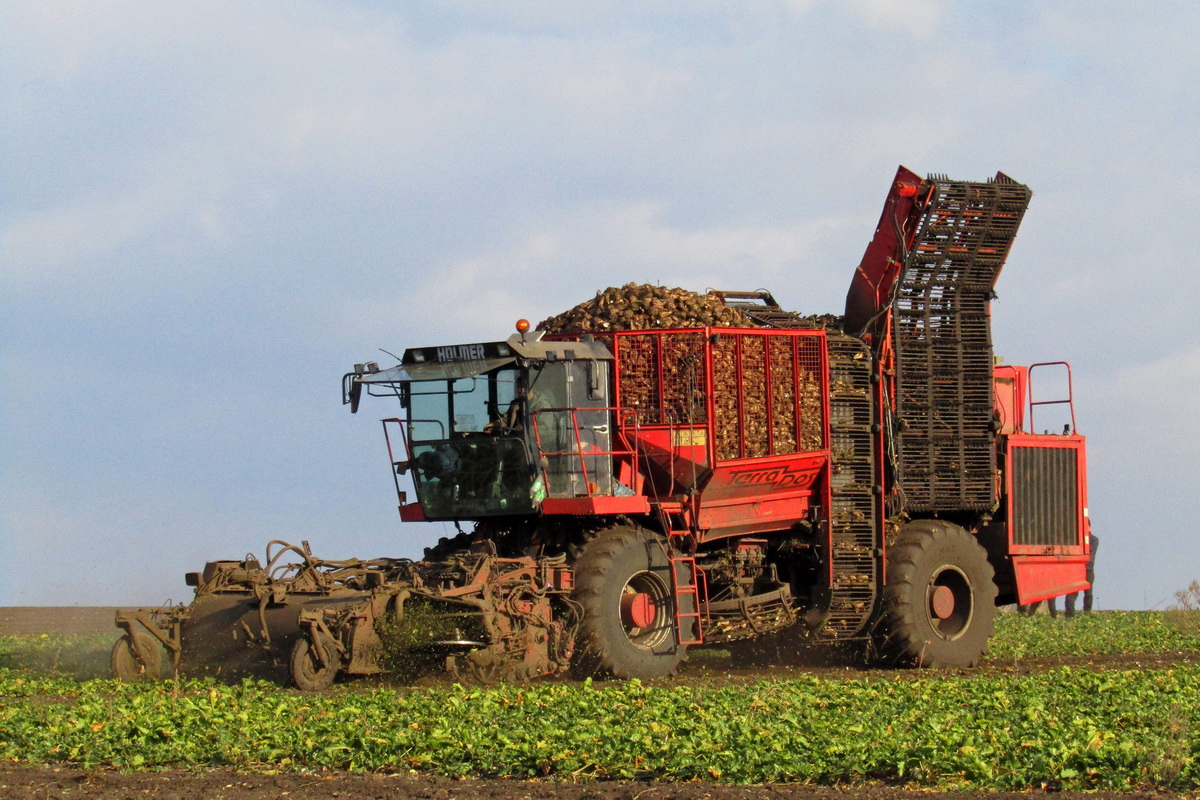
[[[534,511],[518,377],[499,368],[404,384],[409,467],[426,518]]]

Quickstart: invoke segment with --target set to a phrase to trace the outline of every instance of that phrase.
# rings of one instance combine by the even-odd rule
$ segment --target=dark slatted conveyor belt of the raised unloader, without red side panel
[[[988,302],[1028,187],[932,176],[893,294],[896,477],[910,511],[995,504]]]

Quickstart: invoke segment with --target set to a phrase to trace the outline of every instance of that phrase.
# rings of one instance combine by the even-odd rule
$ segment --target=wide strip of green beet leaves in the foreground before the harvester
[[[721,688],[542,684],[305,696],[264,682],[74,693],[0,670],[0,758],[450,776],[1200,788],[1200,667]]]

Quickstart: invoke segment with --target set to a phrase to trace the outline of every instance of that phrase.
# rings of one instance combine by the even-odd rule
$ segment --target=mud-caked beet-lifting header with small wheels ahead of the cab
[[[284,564],[286,555],[300,560]],[[214,561],[188,576],[190,604],[118,613],[125,633],[114,674],[155,679],[168,674],[166,663],[230,676],[287,669],[295,686],[319,691],[342,674],[385,672],[390,658],[432,655],[479,680],[527,680],[570,663],[563,559],[498,558],[485,542],[439,561],[329,561],[307,542],[272,541],[265,564]],[[414,608],[434,610],[413,624]]]

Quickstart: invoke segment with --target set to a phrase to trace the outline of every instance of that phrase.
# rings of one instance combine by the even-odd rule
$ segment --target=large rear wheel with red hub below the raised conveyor
[[[996,622],[995,571],[974,536],[911,522],[888,551],[880,655],[901,666],[973,667]]]

